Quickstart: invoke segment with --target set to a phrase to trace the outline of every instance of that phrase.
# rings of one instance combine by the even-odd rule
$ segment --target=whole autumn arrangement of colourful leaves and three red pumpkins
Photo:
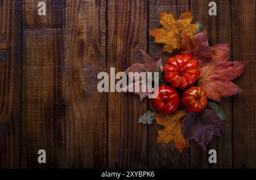
[[[167,63],[155,61],[142,51],[143,63],[131,65],[129,72],[159,72],[158,94],[149,99],[150,110],[138,122],[152,124],[154,119],[164,129],[158,131],[158,143],[174,140],[182,152],[189,140],[206,150],[213,135],[222,136],[225,112],[217,102],[221,97],[242,93],[232,82],[245,69],[247,62],[230,61],[230,43],[210,47],[207,32],[200,22],[192,23],[191,12],[185,11],[175,20],[172,14],[160,12],[162,28],[150,31],[155,43],[163,44],[163,52],[170,53]],[[147,92],[138,92],[142,99]]]

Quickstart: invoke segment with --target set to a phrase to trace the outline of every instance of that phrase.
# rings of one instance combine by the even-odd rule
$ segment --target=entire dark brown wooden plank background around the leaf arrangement
[[[43,0],[42,0],[43,1]],[[0,0],[0,168],[256,168],[256,2],[216,0]],[[192,140],[179,153],[158,144],[156,123],[137,123],[147,99],[98,93],[97,74],[141,61],[140,49],[166,62],[148,32],[159,12],[191,10],[210,45],[232,42],[232,60],[250,60],[236,79],[244,92],[222,98],[224,137],[217,164]],[[45,149],[47,163],[38,164]]]

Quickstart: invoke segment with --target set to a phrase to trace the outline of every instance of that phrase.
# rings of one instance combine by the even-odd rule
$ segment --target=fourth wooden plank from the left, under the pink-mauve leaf
[[[147,49],[147,1],[108,1],[108,70],[122,72]],[[147,99],[108,93],[109,168],[147,168],[147,126],[138,124]]]

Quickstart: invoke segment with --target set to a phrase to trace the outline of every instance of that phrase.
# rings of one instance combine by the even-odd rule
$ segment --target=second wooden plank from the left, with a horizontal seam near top
[[[55,15],[60,7],[53,6],[65,1],[48,1],[51,27],[26,13],[36,1],[23,2],[22,168],[65,168],[65,11]],[[46,164],[38,163],[39,149],[46,150]]]

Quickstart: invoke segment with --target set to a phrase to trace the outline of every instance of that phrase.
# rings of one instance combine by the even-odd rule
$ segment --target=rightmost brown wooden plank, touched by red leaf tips
[[[233,168],[256,167],[255,11],[255,1],[232,1],[232,57],[250,61],[235,81],[244,92],[233,97]]]

